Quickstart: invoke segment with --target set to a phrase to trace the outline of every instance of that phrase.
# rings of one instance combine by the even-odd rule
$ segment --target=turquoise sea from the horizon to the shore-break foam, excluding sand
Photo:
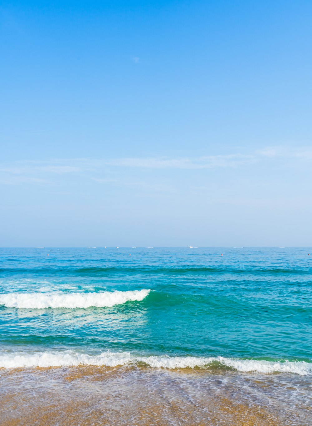
[[[3,248],[0,367],[310,375],[311,300],[310,248]]]

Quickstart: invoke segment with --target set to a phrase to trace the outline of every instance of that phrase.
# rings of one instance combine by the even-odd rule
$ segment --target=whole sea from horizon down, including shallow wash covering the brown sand
[[[312,424],[311,301],[312,248],[1,248],[1,424]]]

